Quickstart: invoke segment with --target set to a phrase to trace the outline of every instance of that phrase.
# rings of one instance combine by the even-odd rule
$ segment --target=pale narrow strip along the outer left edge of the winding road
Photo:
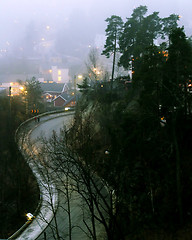
[[[37,239],[40,234],[49,226],[50,222],[54,217],[54,213],[57,211],[58,208],[58,192],[54,181],[47,183],[47,179],[43,179],[43,175],[40,169],[43,169],[42,165],[37,164],[36,156],[31,157],[32,151],[27,153],[26,150],[29,148],[29,132],[31,129],[38,127],[39,124],[46,122],[50,119],[61,117],[61,116],[68,116],[74,114],[73,112],[49,112],[45,114],[39,115],[41,121],[33,124],[35,121],[35,117],[28,119],[27,121],[23,122],[17,129],[15,134],[15,141],[18,144],[19,150],[23,155],[24,159],[27,161],[29,167],[31,168],[37,184],[40,190],[40,200],[39,204],[33,213],[35,218],[32,221],[27,221],[18,231],[16,231],[12,236],[8,239],[25,239],[25,240],[32,240]],[[31,126],[30,126],[31,125]],[[20,138],[20,134],[22,133],[22,129],[26,131],[27,137],[25,139]],[[23,142],[21,140],[24,140]],[[25,145],[25,146],[24,146]],[[50,189],[51,187],[51,189]],[[52,204],[50,206],[50,203]]]

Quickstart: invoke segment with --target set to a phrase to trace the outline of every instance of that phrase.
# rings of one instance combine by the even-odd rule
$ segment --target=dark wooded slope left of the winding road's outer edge
[[[22,99],[0,97],[0,106],[0,236],[8,238],[26,221],[25,213],[34,211],[38,188],[14,139],[16,128],[25,119]]]

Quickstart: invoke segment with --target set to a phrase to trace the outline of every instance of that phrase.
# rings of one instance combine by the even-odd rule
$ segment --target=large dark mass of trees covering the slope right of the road
[[[88,163],[115,192],[117,226],[124,219],[124,236],[138,232],[138,238],[145,227],[167,235],[166,225],[174,232],[191,221],[192,48],[177,15],[160,19],[146,12],[134,11],[120,39],[120,63],[135,67],[132,87],[118,79],[112,98],[105,84],[85,92],[76,109],[77,139],[86,123],[92,127],[89,140],[73,146],[81,146],[82,159],[90,149]],[[155,46],[156,38],[168,35]]]

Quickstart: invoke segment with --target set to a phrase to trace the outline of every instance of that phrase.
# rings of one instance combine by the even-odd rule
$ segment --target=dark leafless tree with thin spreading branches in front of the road
[[[85,136],[83,136],[85,137]],[[83,140],[82,137],[82,141]],[[69,134],[63,129],[60,136],[53,137],[44,143],[44,152],[49,155],[49,168],[56,173],[62,183],[62,191],[65,190],[67,207],[63,210],[68,213],[69,239],[74,228],[80,228],[87,232],[91,239],[114,239],[115,211],[114,191],[101,179],[85,159],[77,152],[72,151],[69,143]],[[42,154],[41,154],[42,155]],[[91,157],[91,156],[89,156]],[[82,209],[82,225],[74,225],[71,218],[71,194],[79,198],[79,206]]]

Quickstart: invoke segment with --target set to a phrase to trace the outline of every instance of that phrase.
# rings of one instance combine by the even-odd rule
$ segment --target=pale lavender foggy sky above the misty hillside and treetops
[[[52,40],[57,34],[68,49],[79,42],[92,44],[97,34],[105,34],[107,17],[119,15],[125,21],[140,5],[148,7],[148,14],[158,11],[160,17],[181,15],[180,25],[192,35],[190,0],[0,0],[0,49],[22,47],[22,39],[30,39],[35,33],[34,41],[44,33]]]

